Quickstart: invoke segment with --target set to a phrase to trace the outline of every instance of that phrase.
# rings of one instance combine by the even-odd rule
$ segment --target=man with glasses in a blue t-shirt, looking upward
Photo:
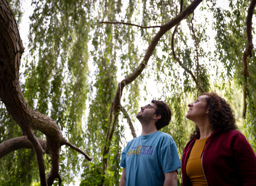
[[[122,152],[123,173],[119,186],[175,186],[181,166],[177,146],[169,134],[158,131],[169,125],[170,107],[162,101],[152,100],[141,107],[137,119],[142,133],[129,141]]]

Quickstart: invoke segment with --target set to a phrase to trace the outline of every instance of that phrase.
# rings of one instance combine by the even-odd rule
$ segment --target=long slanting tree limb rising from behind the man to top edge
[[[121,82],[118,83],[117,86],[117,90],[116,90],[116,94],[115,97],[111,103],[111,115],[110,117],[114,116],[114,120],[112,121],[112,125],[111,125],[111,130],[106,134],[106,141],[105,141],[105,146],[103,148],[103,157],[108,154],[109,152],[109,147],[111,145],[111,139],[113,137],[113,133],[114,133],[114,128],[115,128],[115,124],[118,118],[118,112],[119,112],[119,108],[121,106],[121,97],[122,97],[122,92],[124,87],[131,83],[132,81],[134,81],[143,71],[143,69],[145,69],[145,67],[147,66],[148,60],[151,57],[151,55],[154,52],[154,49],[158,43],[158,41],[161,39],[161,37],[168,31],[170,30],[172,27],[174,27],[176,24],[178,24],[181,20],[186,19],[188,15],[190,15],[191,13],[194,12],[194,10],[196,9],[196,7],[202,2],[203,0],[195,0],[193,1],[184,11],[182,11],[180,14],[178,14],[177,16],[175,16],[175,18],[173,18],[172,20],[170,20],[169,22],[167,22],[166,24],[164,24],[161,29],[156,33],[155,37],[151,40],[151,43],[148,46],[148,49],[146,51],[146,54],[142,60],[142,62],[140,63],[140,65],[137,67],[137,69],[135,71],[133,71],[128,77],[126,77],[124,80],[122,80]],[[102,158],[103,159],[103,175],[105,175],[106,170],[107,170],[107,158]],[[103,181],[102,181],[103,182]],[[102,183],[103,184],[103,183]]]

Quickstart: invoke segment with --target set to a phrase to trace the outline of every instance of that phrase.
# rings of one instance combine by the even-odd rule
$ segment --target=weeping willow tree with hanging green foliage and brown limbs
[[[1,0],[2,185],[67,185],[80,174],[81,185],[118,185],[124,132],[136,137],[147,95],[171,106],[162,131],[181,156],[188,100],[215,90],[235,105],[235,86],[255,150],[255,2],[33,0],[24,48],[22,2]]]

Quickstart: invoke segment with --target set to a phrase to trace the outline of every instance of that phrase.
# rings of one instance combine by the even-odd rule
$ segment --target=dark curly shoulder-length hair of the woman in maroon
[[[226,132],[228,130],[238,130],[233,111],[225,99],[214,92],[205,92],[202,95],[208,96],[206,98],[206,109],[209,109],[208,116],[213,131],[220,130],[221,132]],[[195,139],[198,134],[200,135],[200,131],[196,125],[196,130],[191,134],[190,140]]]

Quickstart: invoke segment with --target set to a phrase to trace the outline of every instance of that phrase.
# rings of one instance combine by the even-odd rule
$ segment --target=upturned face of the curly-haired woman
[[[207,97],[206,95],[199,96],[194,103],[188,104],[189,110],[186,115],[187,119],[196,123],[198,120],[203,120],[204,117],[207,116],[209,112],[209,110],[206,109]]]

